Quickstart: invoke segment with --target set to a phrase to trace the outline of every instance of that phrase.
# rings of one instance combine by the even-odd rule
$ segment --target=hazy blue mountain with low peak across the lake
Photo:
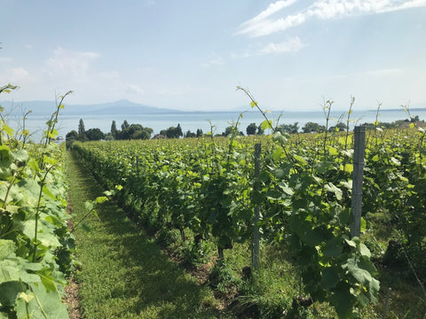
[[[54,101],[27,101],[27,102],[0,102],[6,111],[12,109],[13,115],[20,115],[23,111],[31,110],[33,115],[49,115],[55,110]],[[135,114],[162,114],[162,113],[182,113],[182,111],[141,105],[129,100],[119,100],[112,103],[96,105],[69,105],[65,103],[65,109],[61,111],[63,115],[135,115]]]

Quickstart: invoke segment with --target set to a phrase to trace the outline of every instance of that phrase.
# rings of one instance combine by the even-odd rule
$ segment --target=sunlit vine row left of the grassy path
[[[0,120],[0,318],[68,316],[62,294],[74,238],[67,229],[63,152],[51,143],[63,98],[43,144],[25,143],[28,131],[14,132]]]

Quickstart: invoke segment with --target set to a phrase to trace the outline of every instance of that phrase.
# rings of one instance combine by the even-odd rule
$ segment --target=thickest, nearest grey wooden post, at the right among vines
[[[364,177],[364,158],[366,156],[366,128],[356,126],[354,134],[351,237],[359,237],[361,235],[362,180]]]

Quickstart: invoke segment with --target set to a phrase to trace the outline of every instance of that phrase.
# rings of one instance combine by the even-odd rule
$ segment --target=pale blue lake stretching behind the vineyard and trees
[[[268,119],[276,121],[279,116],[281,124],[292,124],[294,122],[299,123],[299,128],[304,127],[304,124],[309,121],[313,121],[319,124],[325,124],[326,119],[322,111],[315,112],[272,112],[268,113]],[[185,133],[188,129],[192,132],[196,132],[197,128],[201,128],[204,133],[210,131],[210,124],[214,126],[213,133],[221,134],[225,131],[225,128],[231,123],[238,120],[240,113],[238,112],[209,112],[209,113],[166,113],[166,114],[139,114],[139,115],[63,115],[59,116],[59,123],[57,125],[59,136],[66,136],[67,132],[71,130],[78,130],[78,123],[80,119],[84,121],[84,128],[100,128],[103,132],[109,132],[111,130],[112,121],[115,121],[118,129],[121,129],[122,122],[127,120],[130,124],[141,124],[143,127],[153,128],[154,134],[160,133],[162,129],[176,127],[180,124],[182,131]],[[426,120],[426,111],[412,111],[412,115],[418,115],[421,120]],[[346,121],[347,113],[344,111],[335,111],[331,113],[333,118],[330,121],[329,126],[334,126],[339,117],[343,116],[343,122]],[[391,122],[397,120],[406,119],[406,113],[404,110],[398,111],[381,111],[379,121]],[[351,113],[351,128],[358,124],[365,122],[375,121],[375,112],[370,111],[353,111]],[[45,122],[48,120],[47,116],[31,116],[28,115],[28,121],[26,122],[26,128],[33,133],[33,139],[37,141],[42,136],[42,132],[45,129]],[[242,119],[240,120],[240,130],[246,133],[248,124],[255,122],[256,125],[264,121],[262,113],[258,111],[250,110],[249,112],[242,113]],[[19,128],[21,124],[18,118],[9,119],[9,125],[12,128]],[[153,135],[154,136],[154,135]]]

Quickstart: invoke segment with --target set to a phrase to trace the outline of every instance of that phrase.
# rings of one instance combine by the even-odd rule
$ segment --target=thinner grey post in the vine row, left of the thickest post
[[[260,143],[255,144],[255,184],[253,191],[256,193],[259,191],[259,175],[260,175],[260,152],[261,145]],[[259,268],[259,242],[260,242],[260,233],[257,222],[260,219],[260,207],[257,205],[255,207],[255,216],[253,219],[253,242],[251,246],[251,267],[253,270],[258,270]]]

